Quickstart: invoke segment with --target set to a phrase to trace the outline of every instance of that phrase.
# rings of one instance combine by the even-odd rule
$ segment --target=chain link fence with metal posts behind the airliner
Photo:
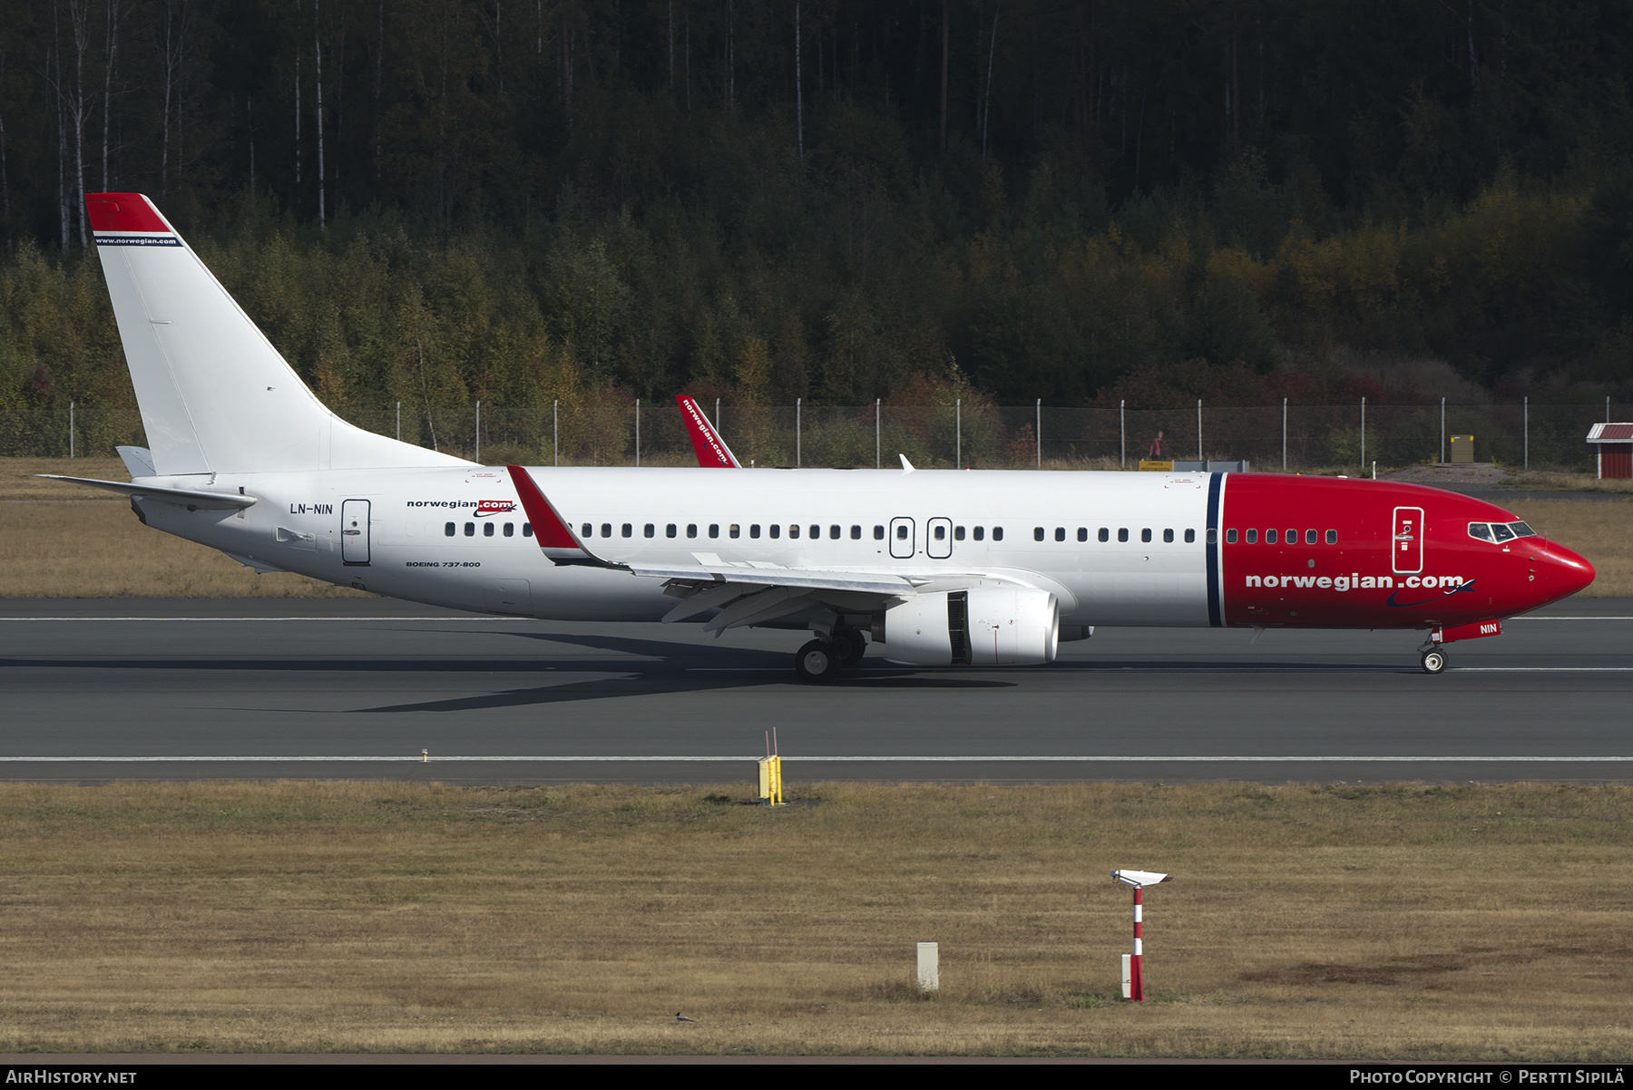
[[[1475,460],[1511,468],[1591,472],[1587,431],[1633,419],[1595,405],[1274,405],[1174,410],[947,405],[705,405],[743,465],[923,468],[1138,468],[1141,459],[1246,460],[1254,470],[1370,472],[1450,457],[1475,437]],[[526,465],[694,465],[673,401],[470,405],[345,410],[382,436],[461,457]],[[108,457],[147,445],[134,406],[0,410],[7,457]]]

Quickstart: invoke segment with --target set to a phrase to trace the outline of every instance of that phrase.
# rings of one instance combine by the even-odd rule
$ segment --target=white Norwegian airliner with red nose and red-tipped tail
[[[1096,625],[1416,628],[1439,672],[1444,643],[1594,578],[1514,514],[1411,485],[905,457],[483,467],[328,411],[147,197],[87,210],[150,445],[119,449],[129,483],[62,480],[127,493],[144,524],[256,571],[550,620],[808,630],[807,680],[869,640],[918,666],[1040,664]],[[735,468],[709,434],[699,459]]]

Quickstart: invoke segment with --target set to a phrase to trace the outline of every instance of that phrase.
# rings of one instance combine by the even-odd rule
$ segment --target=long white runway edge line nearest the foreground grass
[[[722,764],[738,760],[759,760],[759,754],[720,754],[720,755],[449,755],[425,760],[421,754],[405,755],[367,755],[367,754],[331,754],[331,755],[167,755],[167,757],[0,757],[0,764],[470,764],[470,762],[527,762],[527,764]],[[1633,757],[1476,757],[1476,755],[1026,755],[1026,754],[991,754],[991,755],[821,755],[785,757],[789,762],[807,764],[1633,764]]]

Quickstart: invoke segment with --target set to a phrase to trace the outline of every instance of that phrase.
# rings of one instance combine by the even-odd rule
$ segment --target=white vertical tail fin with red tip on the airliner
[[[469,465],[330,413],[145,196],[85,210],[158,473]]]

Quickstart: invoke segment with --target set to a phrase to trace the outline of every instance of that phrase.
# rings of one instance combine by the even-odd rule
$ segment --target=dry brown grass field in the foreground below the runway
[[[1633,1052],[1628,788],[790,773],[0,785],[0,1051]]]

